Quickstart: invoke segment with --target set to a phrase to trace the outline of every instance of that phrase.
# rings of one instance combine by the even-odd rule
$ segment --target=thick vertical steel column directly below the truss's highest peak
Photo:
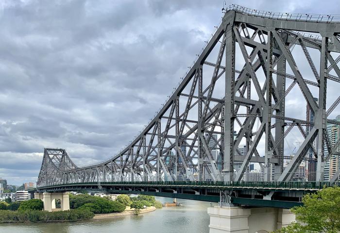
[[[224,157],[223,180],[232,181],[234,175],[234,99],[235,99],[235,33],[226,32],[225,99],[224,99]]]

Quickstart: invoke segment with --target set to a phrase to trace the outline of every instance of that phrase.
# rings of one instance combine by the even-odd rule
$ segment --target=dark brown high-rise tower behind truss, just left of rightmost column
[[[316,102],[318,102],[318,98],[314,98]],[[306,106],[306,120],[310,122],[314,122],[314,114],[312,110],[310,109],[309,105]],[[307,125],[306,126],[306,135],[309,134],[309,132],[312,130],[313,126]],[[317,145],[317,138],[313,142],[313,147],[316,148]],[[313,158],[313,150],[309,149],[307,151],[307,157]],[[315,160],[309,160],[308,161],[308,181],[315,181],[316,180],[316,161]]]

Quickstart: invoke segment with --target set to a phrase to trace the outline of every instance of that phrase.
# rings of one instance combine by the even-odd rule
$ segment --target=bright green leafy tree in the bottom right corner
[[[340,187],[324,188],[317,193],[307,194],[303,206],[291,212],[296,220],[277,233],[337,233],[340,231]]]

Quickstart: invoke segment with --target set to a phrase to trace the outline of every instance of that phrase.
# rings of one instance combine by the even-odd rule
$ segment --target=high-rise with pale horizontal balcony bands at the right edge
[[[340,121],[340,115],[338,115],[335,120]],[[329,136],[331,147],[334,147],[340,138],[340,126],[327,123],[327,133]],[[327,155],[328,150],[327,146],[325,145],[324,157],[326,157]],[[331,158],[329,158],[329,160],[326,162],[324,166],[324,180],[329,181],[339,169],[340,169],[339,156],[333,155]]]

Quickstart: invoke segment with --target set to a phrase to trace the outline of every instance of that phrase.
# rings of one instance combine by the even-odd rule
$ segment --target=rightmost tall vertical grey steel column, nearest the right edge
[[[315,116],[315,125],[318,129],[318,164],[316,167],[316,181],[323,181],[324,172],[324,137],[323,132],[327,130],[326,121],[326,90],[327,90],[327,52],[328,52],[328,37],[323,36],[320,56],[320,88],[319,88],[319,109]]]

